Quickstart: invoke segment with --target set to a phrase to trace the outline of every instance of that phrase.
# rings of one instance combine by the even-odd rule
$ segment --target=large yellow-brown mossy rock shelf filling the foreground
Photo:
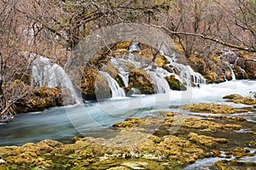
[[[225,156],[254,156],[250,150],[234,147],[232,139],[218,138],[215,132],[241,129],[236,119],[227,119],[234,124],[219,123],[195,117],[177,121],[180,113],[161,111],[155,117],[128,117],[124,122],[113,124],[117,135],[110,139],[79,138],[73,144],[62,144],[45,139],[22,146],[0,147],[1,168],[13,169],[179,169],[198,159],[209,156],[222,157],[216,147],[222,148]],[[179,123],[180,124],[179,124]],[[181,126],[177,133],[170,128]],[[157,127],[152,133],[150,128]],[[208,129],[208,130],[207,130]],[[169,133],[165,133],[166,130]],[[210,130],[210,131],[209,131]],[[191,132],[192,131],[192,132]],[[253,146],[254,141],[247,144]],[[255,145],[255,144],[254,144]],[[231,147],[230,147],[231,146]],[[217,161],[215,167],[251,167],[253,162]]]

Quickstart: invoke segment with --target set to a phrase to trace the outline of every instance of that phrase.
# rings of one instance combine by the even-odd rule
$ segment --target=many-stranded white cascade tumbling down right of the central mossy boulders
[[[198,72],[193,71],[189,65],[182,65],[176,63],[176,56],[173,54],[173,58],[164,55],[165,58],[170,62],[167,66],[172,66],[179,71],[179,77],[186,82],[188,86],[191,86],[193,82],[195,85],[206,83],[206,79],[201,76]]]

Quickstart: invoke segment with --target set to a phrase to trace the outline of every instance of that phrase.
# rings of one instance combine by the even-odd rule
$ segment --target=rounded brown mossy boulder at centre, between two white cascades
[[[129,88],[137,88],[141,94],[155,94],[156,88],[146,71],[133,69],[129,72]]]

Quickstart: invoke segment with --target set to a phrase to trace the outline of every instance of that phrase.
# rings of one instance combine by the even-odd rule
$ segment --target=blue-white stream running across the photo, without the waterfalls
[[[208,114],[195,114],[183,111],[179,106],[189,103],[223,103],[237,108],[252,107],[226,102],[224,95],[253,95],[256,81],[236,80],[219,84],[202,84],[201,88],[188,88],[187,91],[172,91],[169,94],[136,95],[132,97],[107,99],[102,102],[86,102],[83,105],[67,105],[49,108],[42,112],[31,112],[14,117],[12,122],[0,124],[0,145],[21,145],[38,142],[42,139],[55,139],[63,143],[72,142],[73,136],[111,138],[116,131],[113,123],[124,121],[128,116],[154,116],[156,111],[179,111],[183,116],[202,118]],[[256,111],[234,114],[247,119],[248,129],[236,132],[236,138],[256,131]],[[205,117],[204,117],[205,118]],[[211,167],[222,158],[198,160],[184,169]],[[242,158],[242,161],[255,161],[255,156]],[[213,169],[213,168],[210,168]]]

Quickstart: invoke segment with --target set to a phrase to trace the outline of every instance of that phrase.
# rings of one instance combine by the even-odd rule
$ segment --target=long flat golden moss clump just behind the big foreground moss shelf
[[[212,114],[233,114],[240,112],[247,112],[246,110],[236,109],[236,107],[232,107],[230,105],[224,104],[213,104],[213,103],[199,103],[199,104],[189,104],[183,105],[182,107],[185,110],[193,111],[193,112],[204,112],[204,113],[212,113]]]

